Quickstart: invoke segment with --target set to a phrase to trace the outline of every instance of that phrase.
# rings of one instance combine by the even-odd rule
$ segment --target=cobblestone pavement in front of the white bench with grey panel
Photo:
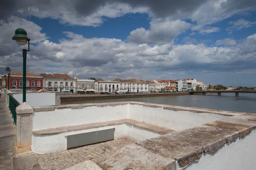
[[[129,138],[120,138],[56,153],[35,153],[34,156],[42,170],[63,170],[85,160],[100,164],[120,148],[134,142]]]

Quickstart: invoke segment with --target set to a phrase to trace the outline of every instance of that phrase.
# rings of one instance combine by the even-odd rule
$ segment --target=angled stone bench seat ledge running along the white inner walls
[[[118,119],[118,120],[111,120],[111,121],[104,121],[104,122],[87,123],[87,124],[81,124],[81,125],[62,126],[62,127],[53,127],[53,128],[41,129],[41,130],[33,130],[32,133],[35,135],[54,135],[54,134],[70,132],[70,131],[93,129],[97,127],[122,125],[125,123],[128,125],[134,125],[136,127],[140,127],[145,130],[150,130],[160,134],[167,134],[175,131],[173,129],[141,122],[134,119]]]

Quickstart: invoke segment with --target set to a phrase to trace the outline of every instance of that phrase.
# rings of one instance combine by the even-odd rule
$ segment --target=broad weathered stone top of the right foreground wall
[[[236,116],[221,119],[202,126],[169,133],[138,143],[148,150],[175,159],[179,167],[186,167],[201,158],[203,153],[213,153],[222,145],[245,137],[253,130],[252,115],[244,114],[243,122],[236,122]],[[239,116],[242,117],[242,116]],[[256,116],[255,116],[256,118]],[[247,122],[245,121],[246,119]],[[256,120],[255,120],[256,123]]]

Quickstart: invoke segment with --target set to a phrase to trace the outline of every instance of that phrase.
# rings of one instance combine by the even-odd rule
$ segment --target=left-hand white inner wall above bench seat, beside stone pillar
[[[107,107],[86,107],[82,109],[55,109],[55,111],[35,112],[33,130],[51,127],[79,125],[115,119],[126,119],[128,105]]]

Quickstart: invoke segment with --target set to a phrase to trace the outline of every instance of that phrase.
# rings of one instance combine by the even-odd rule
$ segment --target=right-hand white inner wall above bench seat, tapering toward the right
[[[144,107],[142,105],[130,105],[128,115],[130,119],[169,127],[174,130],[184,130],[227,117],[212,113],[170,111],[163,108]]]

